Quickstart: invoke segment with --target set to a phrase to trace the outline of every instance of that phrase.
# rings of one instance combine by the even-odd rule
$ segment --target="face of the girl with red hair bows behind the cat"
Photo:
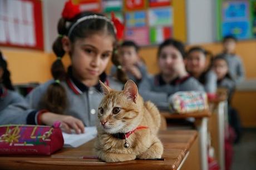
[[[78,38],[70,48],[73,74],[80,80],[99,78],[112,56],[113,42],[107,34]]]

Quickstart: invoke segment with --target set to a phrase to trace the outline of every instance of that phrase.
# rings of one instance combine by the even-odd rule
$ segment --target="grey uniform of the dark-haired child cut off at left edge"
[[[27,116],[37,112],[17,92],[0,86],[0,124],[27,124]]]

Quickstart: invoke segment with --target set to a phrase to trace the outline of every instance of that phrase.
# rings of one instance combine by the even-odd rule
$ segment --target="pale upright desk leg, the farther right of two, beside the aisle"
[[[225,147],[224,147],[224,132],[225,132],[225,114],[227,113],[227,102],[220,102],[218,106],[218,131],[219,131],[219,164],[220,170],[225,169]]]

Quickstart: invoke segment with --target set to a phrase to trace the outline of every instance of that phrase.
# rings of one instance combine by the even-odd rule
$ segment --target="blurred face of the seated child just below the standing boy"
[[[213,63],[213,70],[217,75],[218,80],[222,79],[228,73],[228,65],[224,59],[217,59]]]

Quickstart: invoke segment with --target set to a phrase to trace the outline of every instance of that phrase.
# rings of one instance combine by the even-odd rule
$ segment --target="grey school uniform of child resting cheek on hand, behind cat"
[[[161,110],[169,109],[169,97],[179,91],[204,91],[204,88],[190,75],[166,83],[160,74],[144,79],[139,87],[139,93],[144,100],[155,103]]]

